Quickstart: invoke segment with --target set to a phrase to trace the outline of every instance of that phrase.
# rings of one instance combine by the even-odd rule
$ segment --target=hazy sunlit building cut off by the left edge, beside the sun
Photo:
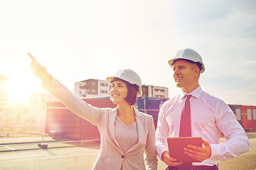
[[[8,104],[8,85],[10,77],[7,75],[0,75],[0,106]]]

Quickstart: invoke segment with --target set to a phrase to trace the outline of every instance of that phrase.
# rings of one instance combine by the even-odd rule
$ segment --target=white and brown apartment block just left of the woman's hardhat
[[[110,96],[110,89],[106,80],[87,79],[75,82],[75,95],[80,98]]]

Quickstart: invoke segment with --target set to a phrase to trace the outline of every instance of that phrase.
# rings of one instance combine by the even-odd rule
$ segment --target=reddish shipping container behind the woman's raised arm
[[[83,99],[97,108],[115,108],[117,105],[105,99]],[[63,103],[52,102],[46,105],[46,132],[55,138],[71,140],[99,140],[97,126],[92,125],[72,113]]]

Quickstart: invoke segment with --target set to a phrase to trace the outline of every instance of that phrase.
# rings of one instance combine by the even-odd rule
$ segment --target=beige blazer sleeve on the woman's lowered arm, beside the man
[[[154,128],[154,120],[152,116],[150,116],[149,132],[146,137],[144,162],[145,162],[146,170],[157,169],[156,135],[155,135],[155,128]]]

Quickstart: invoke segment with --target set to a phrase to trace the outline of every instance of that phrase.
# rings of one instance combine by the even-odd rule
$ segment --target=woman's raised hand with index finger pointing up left
[[[31,69],[33,74],[36,75],[39,79],[41,79],[43,82],[49,82],[51,80],[50,74],[48,74],[46,67],[43,67],[36,59],[28,53],[29,57],[31,57]]]

